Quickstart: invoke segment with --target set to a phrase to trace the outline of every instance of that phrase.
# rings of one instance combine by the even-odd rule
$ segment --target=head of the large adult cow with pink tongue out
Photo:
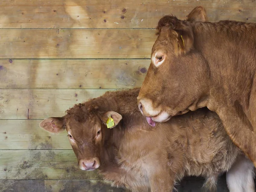
[[[193,32],[195,22],[205,21],[203,7],[193,9],[187,20],[172,15],[159,20],[151,64],[137,97],[139,109],[151,126],[186,113],[205,91],[207,68],[201,53],[194,49]]]

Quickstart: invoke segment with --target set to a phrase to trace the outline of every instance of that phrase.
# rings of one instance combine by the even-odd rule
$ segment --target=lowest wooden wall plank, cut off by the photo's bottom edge
[[[0,192],[128,192],[103,180],[0,180]]]

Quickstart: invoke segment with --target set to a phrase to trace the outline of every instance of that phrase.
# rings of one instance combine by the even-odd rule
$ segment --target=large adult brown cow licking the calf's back
[[[205,21],[202,7],[187,20],[159,20],[138,106],[152,126],[202,107],[215,111],[256,166],[256,23]]]

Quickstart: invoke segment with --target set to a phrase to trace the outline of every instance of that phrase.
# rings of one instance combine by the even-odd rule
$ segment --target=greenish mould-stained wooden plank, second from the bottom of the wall
[[[0,150],[0,180],[102,179],[79,169],[73,150]]]

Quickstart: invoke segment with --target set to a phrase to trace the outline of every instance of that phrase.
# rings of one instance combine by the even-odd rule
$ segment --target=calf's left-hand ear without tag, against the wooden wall
[[[49,117],[44,119],[39,126],[50,133],[58,134],[64,131],[65,121],[63,117]]]

